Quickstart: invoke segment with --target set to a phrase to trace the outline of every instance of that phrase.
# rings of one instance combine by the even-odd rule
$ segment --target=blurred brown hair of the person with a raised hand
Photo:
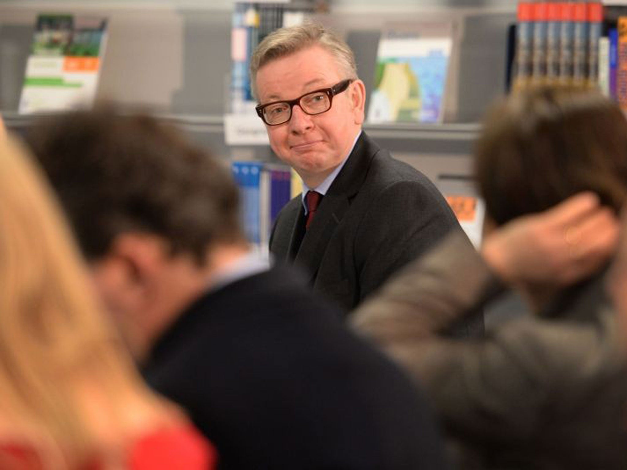
[[[475,147],[475,175],[498,225],[580,191],[620,209],[627,196],[627,120],[596,91],[543,86],[494,105]]]

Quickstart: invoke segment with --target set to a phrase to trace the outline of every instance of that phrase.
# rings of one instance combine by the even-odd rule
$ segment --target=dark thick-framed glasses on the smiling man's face
[[[292,108],[295,105],[308,115],[322,114],[331,109],[333,97],[345,91],[352,79],[342,80],[329,88],[310,91],[295,100],[275,101],[259,105],[255,108],[257,114],[269,126],[277,126],[288,122],[292,118]]]

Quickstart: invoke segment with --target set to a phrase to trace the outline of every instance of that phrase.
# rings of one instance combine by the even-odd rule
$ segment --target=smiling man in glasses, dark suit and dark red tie
[[[251,59],[251,83],[272,149],[303,180],[270,251],[345,311],[460,229],[435,185],[362,131],[366,89],[335,34],[314,23],[275,31]]]

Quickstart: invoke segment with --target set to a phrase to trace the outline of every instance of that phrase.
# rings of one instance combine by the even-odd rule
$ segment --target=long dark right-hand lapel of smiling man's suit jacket
[[[315,278],[327,245],[364,183],[372,158],[378,150],[379,147],[362,132],[346,164],[322,198],[295,258],[295,263],[305,269],[309,281]],[[292,232],[295,233],[295,230]]]

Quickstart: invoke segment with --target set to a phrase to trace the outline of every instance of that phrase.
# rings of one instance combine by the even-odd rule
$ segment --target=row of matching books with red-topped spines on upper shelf
[[[514,89],[535,84],[598,86],[600,1],[518,4]]]

